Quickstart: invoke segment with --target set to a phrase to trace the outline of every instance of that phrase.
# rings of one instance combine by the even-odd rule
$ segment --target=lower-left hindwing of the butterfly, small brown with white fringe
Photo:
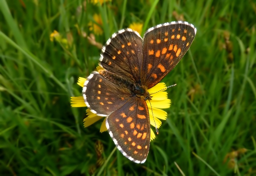
[[[94,114],[108,116],[131,97],[128,92],[99,72],[92,72],[84,82],[82,94],[85,104]]]

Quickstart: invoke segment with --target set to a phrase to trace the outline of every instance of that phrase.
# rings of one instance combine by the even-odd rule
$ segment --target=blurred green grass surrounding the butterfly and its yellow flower
[[[256,174],[254,1],[113,0],[85,7],[82,0],[0,0],[0,11],[2,175]],[[100,122],[83,127],[86,108],[70,107],[70,96],[81,96],[78,77],[98,64],[100,49],[81,33],[93,33],[94,13],[102,17],[104,32],[95,35],[102,44],[132,22],[144,31],[179,19],[197,28],[188,53],[163,80],[177,86],[167,90],[168,118],[142,165],[115,149]],[[68,48],[50,41],[53,30]]]

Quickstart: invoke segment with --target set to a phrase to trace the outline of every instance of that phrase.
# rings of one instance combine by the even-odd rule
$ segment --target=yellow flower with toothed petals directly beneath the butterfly
[[[97,70],[102,69],[100,67],[97,67]],[[84,82],[86,81],[85,78],[79,78],[77,84],[81,87],[84,86]],[[148,89],[149,94],[155,93],[152,96],[152,100],[150,100],[151,106],[152,106],[152,111],[151,111],[151,106],[149,101],[147,100],[147,105],[148,105],[148,111],[149,111],[149,118],[150,118],[150,124],[154,126],[153,129],[155,129],[155,122],[157,128],[159,128],[162,124],[162,122],[159,119],[165,120],[167,113],[163,110],[162,108],[169,108],[171,100],[167,98],[167,92],[163,91],[163,89],[166,88],[164,83],[158,83],[156,86],[153,88]],[[161,90],[161,91],[160,91]],[[160,92],[158,92],[160,91]],[[71,97],[71,106],[72,107],[85,107],[86,104],[84,103],[84,98],[83,96],[78,96],[78,97]],[[161,108],[161,109],[159,109]],[[100,127],[100,132],[107,131],[107,127],[105,125],[106,122],[106,117],[102,116],[97,116],[96,114],[92,113],[89,109],[86,110],[87,112],[87,117],[84,119],[84,127],[92,125],[94,122],[97,122],[98,120],[104,118],[101,127]],[[154,115],[154,119],[153,119]],[[150,133],[150,140],[155,139],[156,135],[154,134],[154,131],[151,129]]]

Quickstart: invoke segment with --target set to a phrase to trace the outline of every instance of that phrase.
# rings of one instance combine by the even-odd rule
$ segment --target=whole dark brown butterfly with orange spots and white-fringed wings
[[[159,83],[185,55],[196,28],[173,21],[149,28],[144,37],[132,29],[114,33],[103,46],[99,65],[84,82],[83,97],[94,114],[106,117],[117,149],[144,163],[150,146],[148,89]]]

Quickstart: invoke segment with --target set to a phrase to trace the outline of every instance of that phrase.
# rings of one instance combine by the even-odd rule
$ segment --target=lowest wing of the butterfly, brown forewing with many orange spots
[[[150,145],[150,122],[145,100],[132,97],[106,119],[116,147],[128,159],[144,163]]]

